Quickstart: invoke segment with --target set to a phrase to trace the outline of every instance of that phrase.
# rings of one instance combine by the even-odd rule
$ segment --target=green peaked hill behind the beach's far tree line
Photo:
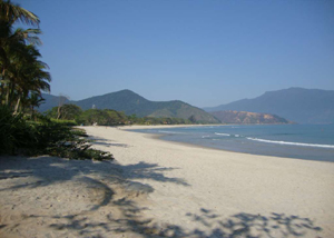
[[[45,95],[43,95],[45,97]],[[55,97],[55,96],[52,96]],[[51,98],[55,101],[55,98]],[[47,98],[47,97],[45,97]],[[57,99],[57,97],[56,97]],[[57,100],[56,100],[57,101]],[[47,99],[47,106],[57,107],[57,103],[51,103]],[[114,109],[117,111],[124,111],[126,115],[137,115],[137,117],[173,117],[183,119],[194,119],[196,122],[202,123],[219,123],[219,121],[206,111],[193,107],[183,101],[150,101],[141,96],[130,91],[121,90],[117,92],[110,92],[102,96],[96,96],[79,101],[68,101],[70,103],[81,107],[84,110],[91,109]],[[43,107],[40,111],[51,109]]]

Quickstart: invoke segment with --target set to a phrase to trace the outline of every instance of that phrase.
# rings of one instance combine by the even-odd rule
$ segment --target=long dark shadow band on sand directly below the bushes
[[[189,186],[181,178],[170,178],[164,175],[164,171],[174,169],[175,168],[159,167],[158,163],[143,161],[121,166],[116,161],[66,160],[48,156],[37,158],[0,157],[0,180],[21,177],[33,177],[37,180],[31,184],[3,188],[0,189],[0,191],[26,187],[36,188],[50,186],[72,179],[81,179],[86,184],[96,185],[98,181],[90,178],[91,176],[107,179],[108,182],[111,184],[121,181],[136,189],[140,187],[140,182],[138,182],[139,179]],[[136,182],[132,182],[131,179],[136,179]],[[106,185],[100,184],[100,186]],[[145,186],[143,186],[143,188]]]

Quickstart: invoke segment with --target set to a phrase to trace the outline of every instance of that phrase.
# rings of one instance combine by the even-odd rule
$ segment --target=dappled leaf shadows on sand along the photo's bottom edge
[[[141,237],[191,237],[191,238],[261,238],[261,237],[304,237],[311,235],[317,237],[321,227],[317,227],[311,219],[298,216],[272,212],[269,216],[239,212],[225,219],[217,219],[219,216],[200,211],[199,215],[189,214],[191,222],[205,225],[206,228],[188,230],[178,225],[158,226],[151,219],[138,219],[136,212],[140,212],[135,204],[127,200],[116,201],[121,208],[124,218],[114,219],[107,216],[108,221],[101,224],[80,225],[82,220],[72,220],[67,228],[79,229],[80,235],[92,234],[89,228],[102,228],[110,234],[137,234]],[[193,218],[193,219],[191,219]],[[212,220],[214,219],[214,220]],[[79,222],[79,225],[78,225]],[[110,226],[112,224],[112,226]],[[117,224],[118,226],[115,226]],[[58,227],[55,225],[53,227]],[[116,227],[116,228],[115,228]],[[61,227],[59,227],[61,228]],[[115,228],[115,229],[114,229]]]

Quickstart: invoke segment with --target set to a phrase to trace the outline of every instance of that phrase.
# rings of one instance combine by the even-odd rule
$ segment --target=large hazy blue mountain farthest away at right
[[[254,99],[243,99],[206,111],[252,111],[279,115],[298,123],[334,123],[334,91],[289,88],[268,91]]]

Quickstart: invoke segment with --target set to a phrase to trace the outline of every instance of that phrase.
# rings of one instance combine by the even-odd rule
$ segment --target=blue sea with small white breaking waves
[[[202,126],[136,131],[236,152],[334,162],[334,125]]]

